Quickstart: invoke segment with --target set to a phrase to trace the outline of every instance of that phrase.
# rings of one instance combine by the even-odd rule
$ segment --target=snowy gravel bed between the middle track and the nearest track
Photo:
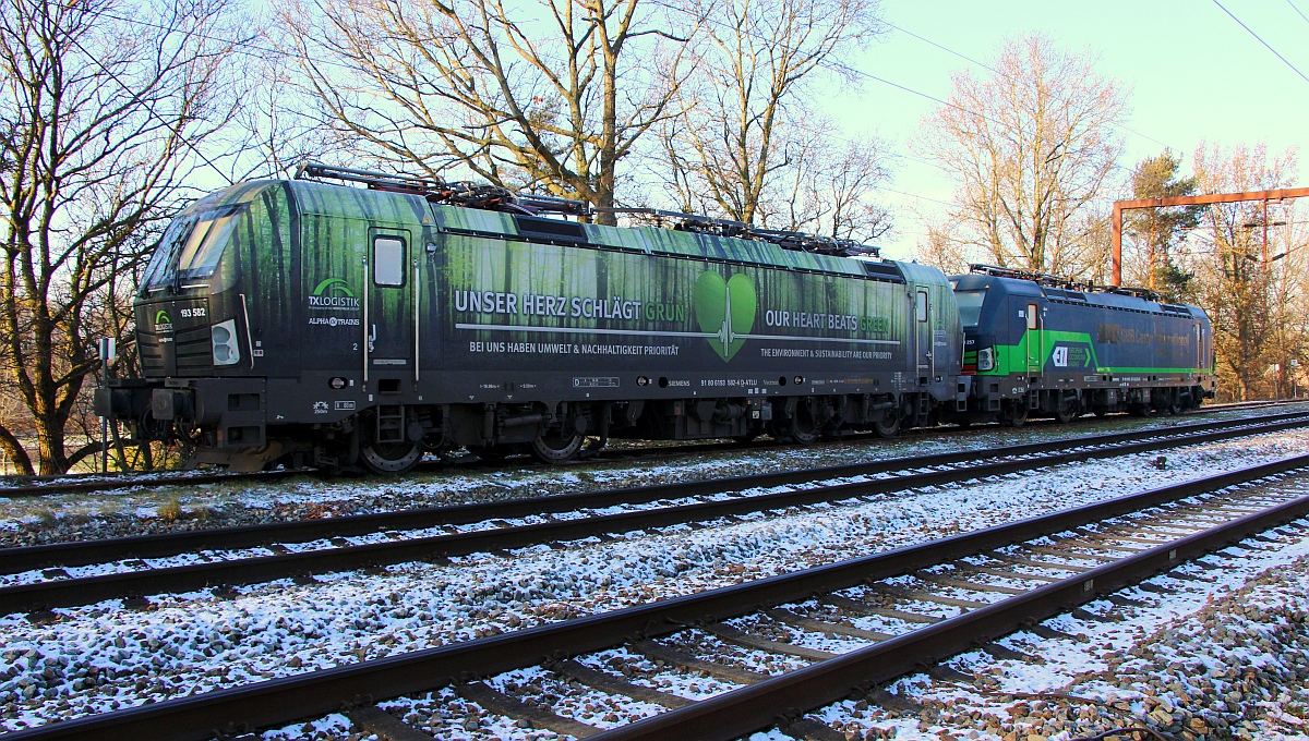
[[[867,555],[1309,451],[1288,431],[928,487],[741,521],[679,525],[381,575],[276,582],[223,600],[157,597],[0,618],[0,729],[38,725],[611,610]]]

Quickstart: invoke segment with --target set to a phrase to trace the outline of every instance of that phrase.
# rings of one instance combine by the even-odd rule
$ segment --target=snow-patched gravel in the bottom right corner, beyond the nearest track
[[[1309,521],[1301,520],[1301,527]],[[1289,531],[1287,531],[1289,532]],[[889,687],[908,707],[846,700],[813,714],[851,738],[1056,741],[1138,727],[1165,738],[1309,738],[1309,537],[1247,540],[1118,596],[999,640],[1035,660],[977,651]],[[1096,619],[1092,616],[1100,616]],[[1119,733],[1119,738],[1132,738]],[[781,738],[758,733],[751,741]]]

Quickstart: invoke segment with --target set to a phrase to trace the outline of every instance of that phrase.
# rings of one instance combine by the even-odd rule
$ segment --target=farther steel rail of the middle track
[[[60,542],[0,549],[0,574],[17,574],[34,568],[52,566],[85,566],[107,563],[128,558],[162,558],[200,550],[237,550],[260,548],[278,542],[305,542],[319,538],[360,536],[389,529],[423,529],[440,525],[462,525],[497,519],[525,518],[530,515],[571,512],[581,508],[611,507],[615,504],[641,504],[660,499],[678,499],[724,491],[741,491],[770,486],[808,484],[823,478],[851,476],[873,476],[894,470],[954,465],[1004,456],[1028,456],[1060,451],[1073,447],[1110,446],[1136,440],[1164,439],[1192,435],[1216,430],[1251,429],[1262,425],[1267,431],[1276,431],[1268,425],[1279,422],[1309,423],[1309,410],[1246,420],[1227,420],[1203,422],[1177,427],[1135,430],[1089,435],[1080,438],[1060,438],[1042,443],[1026,443],[995,448],[984,455],[977,451],[956,451],[924,456],[905,456],[867,463],[844,464],[825,468],[793,469],[775,473],[758,473],[675,484],[657,484],[627,489],[603,489],[573,494],[554,494],[503,502],[476,504],[454,504],[448,507],[423,507],[377,512],[370,515],[348,515],[343,518],[323,518],[315,520],[296,520],[234,528],[213,528],[177,533],[156,533],[105,538],[80,542]],[[1295,423],[1289,426],[1296,426]],[[1287,426],[1278,429],[1289,429]],[[1257,434],[1242,433],[1242,434]]]

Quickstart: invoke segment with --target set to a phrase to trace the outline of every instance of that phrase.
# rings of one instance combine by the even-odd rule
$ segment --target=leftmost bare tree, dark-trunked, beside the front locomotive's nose
[[[93,446],[64,430],[98,367],[88,315],[113,301],[171,213],[196,146],[229,118],[225,0],[10,0],[0,12],[3,370],[30,413],[24,472],[62,473]],[[144,21],[136,24],[135,21]],[[148,30],[147,30],[148,29]]]

